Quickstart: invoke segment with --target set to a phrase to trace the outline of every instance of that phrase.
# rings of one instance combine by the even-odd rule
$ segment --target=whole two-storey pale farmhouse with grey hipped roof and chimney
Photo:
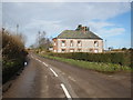
[[[53,52],[102,52],[103,39],[79,24],[75,30],[64,30],[53,41]]]

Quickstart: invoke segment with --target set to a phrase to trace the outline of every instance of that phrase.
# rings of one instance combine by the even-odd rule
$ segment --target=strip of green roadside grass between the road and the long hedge
[[[90,69],[90,70],[95,70],[99,72],[104,72],[104,73],[113,73],[117,71],[133,71],[132,68],[130,67],[123,67],[120,64],[114,64],[114,63],[103,63],[103,62],[89,62],[89,61],[82,61],[82,60],[73,60],[73,59],[65,59],[65,58],[59,58],[59,57],[52,57],[48,54],[39,54],[44,58],[62,61],[70,63],[75,67],[84,68],[84,69]]]

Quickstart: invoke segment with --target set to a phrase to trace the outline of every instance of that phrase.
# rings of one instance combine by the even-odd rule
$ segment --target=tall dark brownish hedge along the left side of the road
[[[2,83],[6,83],[24,64],[28,52],[20,36],[9,31],[0,31],[2,34]]]

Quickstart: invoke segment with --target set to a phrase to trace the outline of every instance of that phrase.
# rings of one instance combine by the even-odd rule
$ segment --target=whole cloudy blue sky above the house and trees
[[[131,47],[130,2],[3,2],[2,27],[27,36],[25,46],[35,42],[38,31],[57,37],[78,24],[90,27],[106,47]]]

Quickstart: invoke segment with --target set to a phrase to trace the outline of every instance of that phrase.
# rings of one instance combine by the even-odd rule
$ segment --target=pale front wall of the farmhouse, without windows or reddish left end
[[[62,47],[62,40],[65,40],[65,47]],[[73,40],[73,47],[70,46],[71,40]],[[81,41],[82,46],[78,47],[78,41]],[[94,41],[98,41],[99,47],[95,47]],[[57,52],[61,52],[62,49],[65,49],[65,52],[72,51],[78,52],[78,49],[82,49],[82,52],[90,52],[90,49],[93,49],[93,52],[102,52],[103,51],[103,40],[99,39],[57,39]]]

